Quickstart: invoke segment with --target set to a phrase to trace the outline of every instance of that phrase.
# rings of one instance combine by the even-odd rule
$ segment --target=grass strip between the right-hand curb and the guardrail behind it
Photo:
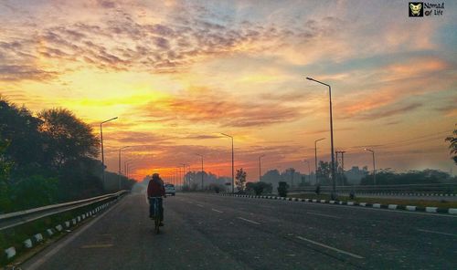
[[[316,200],[331,200],[330,194],[291,194],[287,197],[316,199]],[[351,200],[348,196],[338,196],[338,201],[356,202],[356,203],[381,203],[381,204],[398,204],[398,205],[413,205],[420,207],[439,207],[439,208],[457,208],[457,202],[449,202],[446,200],[426,201],[426,200],[407,200],[407,199],[390,199],[390,198],[365,198],[358,197]]]

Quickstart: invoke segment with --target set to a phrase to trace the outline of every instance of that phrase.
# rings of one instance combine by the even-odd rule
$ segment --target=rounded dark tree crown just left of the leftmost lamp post
[[[46,135],[45,155],[56,169],[68,161],[95,158],[99,139],[90,125],[78,119],[69,109],[46,109],[38,114],[38,130]]]

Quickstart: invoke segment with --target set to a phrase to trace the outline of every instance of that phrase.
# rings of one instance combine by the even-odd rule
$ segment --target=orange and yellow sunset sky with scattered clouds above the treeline
[[[442,1],[441,1],[442,2]],[[440,2],[440,3],[441,3]],[[165,180],[181,163],[248,181],[330,161],[452,171],[457,3],[409,17],[408,1],[0,1],[0,94],[37,113],[67,108],[105,162]],[[123,169],[123,165],[122,165]]]

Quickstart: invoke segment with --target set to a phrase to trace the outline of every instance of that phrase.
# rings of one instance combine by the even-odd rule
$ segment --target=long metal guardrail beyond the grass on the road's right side
[[[332,186],[321,186],[321,192],[331,192]],[[336,186],[336,192],[425,192],[453,193],[457,192],[457,183],[429,184],[393,184],[393,185],[354,185]],[[315,192],[315,186],[291,188],[289,192]]]

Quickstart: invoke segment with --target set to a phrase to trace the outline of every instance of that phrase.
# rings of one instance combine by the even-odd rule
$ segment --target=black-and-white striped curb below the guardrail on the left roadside
[[[46,239],[53,238],[55,236],[55,234],[64,234],[65,232],[69,232],[68,228],[70,228],[72,226],[76,226],[77,224],[79,224],[83,220],[85,220],[86,218],[89,218],[90,216],[93,216],[94,214],[105,210],[106,208],[111,206],[113,203],[117,203],[118,201],[119,201],[119,199],[116,199],[116,200],[112,200],[109,203],[103,203],[100,206],[97,206],[96,208],[94,208],[86,213],[82,213],[76,217],[73,217],[72,219],[70,219],[62,224],[57,224],[54,227],[50,227],[50,228],[46,229],[44,232],[39,232],[37,234],[31,235],[29,238],[24,240],[20,246],[16,245],[16,246],[10,246],[10,247],[6,248],[3,252],[4,253],[3,256],[6,259],[6,262],[4,262],[4,263],[6,263],[6,264],[10,263],[15,258],[15,256],[21,252],[21,250],[27,250],[34,246],[37,246],[41,242],[44,242]],[[67,228],[67,230],[64,230],[64,227]],[[45,233],[45,234],[43,234],[43,233]],[[1,261],[2,261],[2,255],[0,255],[0,264],[1,264]],[[0,268],[1,268],[1,266],[2,265],[0,265]],[[3,265],[3,266],[5,266],[5,265]]]

